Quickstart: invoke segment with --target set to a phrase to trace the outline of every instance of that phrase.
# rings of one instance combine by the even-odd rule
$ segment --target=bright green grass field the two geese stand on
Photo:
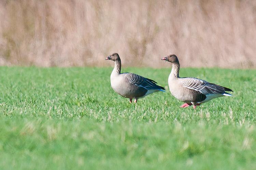
[[[167,87],[170,69],[123,71]],[[111,71],[0,67],[0,169],[256,167],[256,70],[182,68],[234,90],[196,110],[168,89],[129,104]]]

